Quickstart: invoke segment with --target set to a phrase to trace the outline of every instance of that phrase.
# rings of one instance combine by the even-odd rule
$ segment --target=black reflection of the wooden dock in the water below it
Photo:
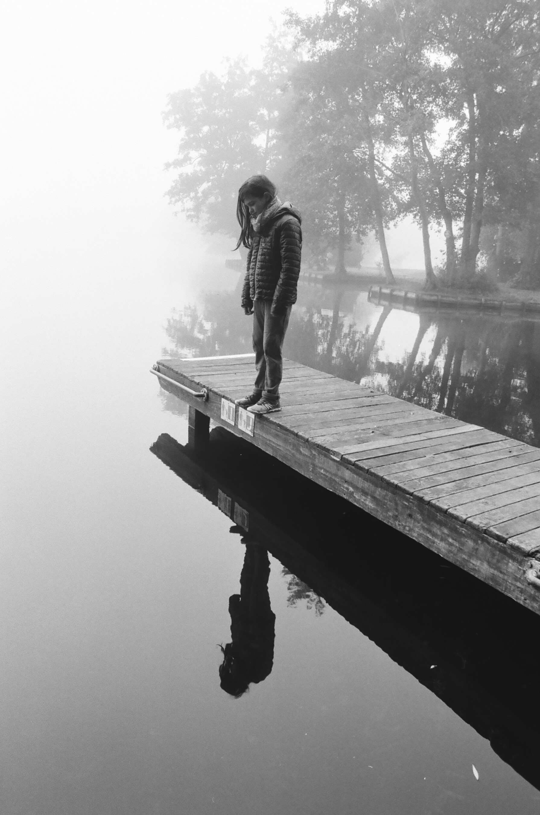
[[[540,619],[221,429],[210,439],[151,450],[540,788]]]

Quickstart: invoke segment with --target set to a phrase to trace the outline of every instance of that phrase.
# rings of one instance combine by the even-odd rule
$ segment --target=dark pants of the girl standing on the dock
[[[253,350],[255,351],[255,391],[268,402],[277,402],[279,399],[279,383],[283,377],[283,339],[292,306],[288,306],[285,314],[274,316],[270,314],[271,300],[255,300],[253,302]]]

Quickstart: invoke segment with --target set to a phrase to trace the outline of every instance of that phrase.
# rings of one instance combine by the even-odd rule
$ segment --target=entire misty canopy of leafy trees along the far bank
[[[444,231],[447,283],[479,261],[540,286],[540,0],[329,0],[288,13],[262,67],[169,98],[181,133],[169,196],[211,230],[235,231],[234,200],[267,171],[301,207],[312,258],[325,262],[375,231],[418,223],[426,285],[431,239]],[[485,231],[485,235],[483,231]],[[519,239],[516,234],[519,233]],[[487,241],[487,243],[486,243]],[[506,267],[505,267],[506,264]]]

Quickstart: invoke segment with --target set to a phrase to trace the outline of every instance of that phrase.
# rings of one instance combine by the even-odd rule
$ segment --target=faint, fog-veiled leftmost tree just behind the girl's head
[[[261,69],[235,59],[222,76],[204,73],[194,88],[169,95],[164,120],[180,131],[180,144],[165,165],[178,171],[167,195],[205,230],[235,236],[240,185],[277,161],[276,126],[294,59],[287,38],[274,32]]]

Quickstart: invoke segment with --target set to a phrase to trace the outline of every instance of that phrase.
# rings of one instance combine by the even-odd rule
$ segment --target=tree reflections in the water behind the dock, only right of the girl
[[[540,324],[420,314],[410,353],[384,360],[379,337],[390,311],[362,332],[339,317],[337,296],[331,316],[307,311],[296,320],[292,355],[350,381],[378,374],[375,386],[393,396],[540,446]],[[418,359],[431,328],[427,359]]]

